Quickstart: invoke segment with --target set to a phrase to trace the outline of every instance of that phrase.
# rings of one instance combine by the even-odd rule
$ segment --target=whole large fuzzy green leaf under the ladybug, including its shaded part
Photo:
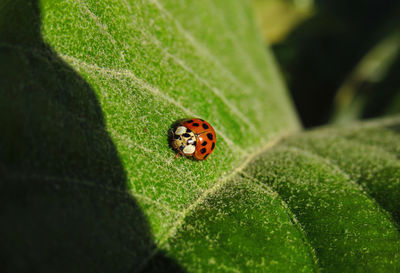
[[[248,3],[6,0],[0,59],[5,272],[399,267],[399,119],[296,133]]]

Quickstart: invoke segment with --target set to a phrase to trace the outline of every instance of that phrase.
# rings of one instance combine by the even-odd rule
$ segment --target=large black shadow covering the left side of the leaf
[[[0,6],[2,272],[134,272],[154,253],[95,92],[46,45],[37,1]],[[184,270],[161,252],[149,270]]]

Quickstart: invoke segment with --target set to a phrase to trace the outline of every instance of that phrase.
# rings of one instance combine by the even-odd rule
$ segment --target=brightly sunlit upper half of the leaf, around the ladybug
[[[246,154],[297,128],[270,57],[247,19],[249,8],[232,7],[242,15],[235,22],[243,29],[238,37],[229,35],[232,20],[209,14],[222,14],[222,7],[175,2],[43,4],[44,37],[96,92],[128,186],[148,207],[159,240],[175,222],[171,210],[183,210]],[[218,153],[204,164],[174,161],[166,143],[171,124],[187,116],[216,128]],[[160,207],[169,210],[162,215]]]

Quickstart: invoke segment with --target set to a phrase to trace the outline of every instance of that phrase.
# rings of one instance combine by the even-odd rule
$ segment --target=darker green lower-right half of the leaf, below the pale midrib
[[[193,206],[168,244],[193,272],[396,272],[399,117],[295,134]]]

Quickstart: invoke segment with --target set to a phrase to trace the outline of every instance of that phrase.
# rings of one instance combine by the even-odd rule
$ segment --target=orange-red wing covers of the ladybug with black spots
[[[202,119],[190,119],[182,123],[196,135],[196,150],[193,157],[197,160],[205,160],[214,151],[216,144],[215,131],[212,126]]]

